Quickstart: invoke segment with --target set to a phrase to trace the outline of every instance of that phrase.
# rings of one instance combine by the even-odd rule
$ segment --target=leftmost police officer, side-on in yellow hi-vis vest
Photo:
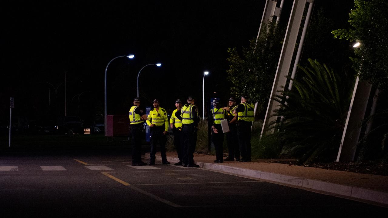
[[[132,166],[147,165],[141,158],[141,140],[144,120],[147,120],[145,111],[140,109],[140,99],[133,99],[133,106],[129,110],[130,135],[132,139]]]

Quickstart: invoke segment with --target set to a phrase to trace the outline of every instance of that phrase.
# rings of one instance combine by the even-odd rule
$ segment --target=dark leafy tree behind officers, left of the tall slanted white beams
[[[276,21],[262,24],[262,33],[250,41],[249,47],[229,48],[227,79],[233,84],[234,96],[246,93],[252,102],[267,102],[282,48],[283,29]]]

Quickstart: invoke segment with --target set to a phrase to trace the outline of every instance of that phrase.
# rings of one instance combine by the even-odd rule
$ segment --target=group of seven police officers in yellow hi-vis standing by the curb
[[[166,134],[168,130],[168,117],[165,109],[159,107],[159,100],[153,101],[154,108],[148,116],[140,109],[140,99],[133,99],[133,106],[129,111],[130,134],[132,138],[132,166],[147,165],[141,160],[141,133],[142,125],[146,121],[150,126],[151,154],[149,165],[155,164],[156,145],[160,145],[163,164],[170,164],[166,157]],[[174,145],[177,149],[179,162],[175,165],[184,167],[199,167],[194,163],[194,151],[197,143],[197,130],[199,123],[198,110],[193,96],[187,98],[187,104],[182,106],[182,101],[175,101],[175,109],[170,118],[170,126],[174,134]],[[248,102],[248,96],[241,96],[241,104],[236,105],[236,100],[228,100],[229,107],[221,107],[220,101],[215,100],[214,109],[211,109],[209,122],[211,134],[216,151],[214,163],[223,161],[251,161],[251,126],[254,121],[254,106]],[[229,156],[223,159],[224,133],[221,120],[227,119],[229,132],[227,132],[227,145]],[[241,156],[241,158],[240,158]]]

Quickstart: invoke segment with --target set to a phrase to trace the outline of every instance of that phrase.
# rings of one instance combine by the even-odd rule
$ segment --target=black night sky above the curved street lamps
[[[103,107],[105,67],[126,54],[135,59],[116,59],[107,70],[108,114],[127,112],[136,95],[137,73],[156,62],[162,67],[148,66],[140,74],[144,100],[158,98],[166,108],[189,94],[201,100],[205,70],[210,71],[206,95],[228,96],[227,48],[246,46],[257,35],[264,3],[3,1],[1,112],[9,112],[9,97],[15,97],[19,116],[49,110],[49,100],[55,104],[49,83],[57,87],[64,82],[65,71],[68,114],[76,115],[80,107]],[[78,102],[76,95],[82,92]],[[61,85],[56,110],[63,102]]]

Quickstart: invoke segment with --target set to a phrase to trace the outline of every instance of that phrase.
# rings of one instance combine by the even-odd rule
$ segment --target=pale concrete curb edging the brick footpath
[[[147,155],[148,154],[148,155]],[[145,154],[149,157],[149,153]],[[157,160],[161,160],[161,156],[156,155]],[[173,163],[177,163],[179,159],[177,157],[167,157],[167,160]],[[277,173],[270,173],[259,170],[250,170],[245,168],[237,168],[233,166],[225,166],[223,164],[204,163],[196,161],[196,164],[200,168],[221,171],[225,173],[231,173],[235,175],[248,176],[257,178],[260,180],[267,180],[271,182],[277,182],[287,185],[303,187],[306,189],[318,190],[322,192],[328,192],[339,196],[353,197],[355,199],[362,199],[366,201],[377,202],[379,204],[385,204],[388,206],[388,193],[378,190],[366,189],[361,187],[353,187],[348,185],[340,185],[330,182],[324,182],[320,180],[314,180],[309,178],[299,178],[294,176],[288,176]]]

